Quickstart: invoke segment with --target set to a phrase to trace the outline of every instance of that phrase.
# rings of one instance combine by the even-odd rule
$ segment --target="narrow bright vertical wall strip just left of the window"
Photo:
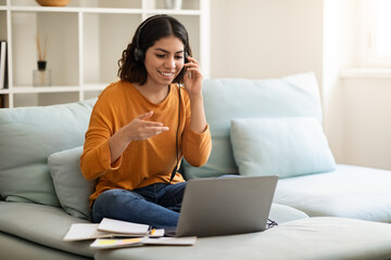
[[[341,98],[340,72],[346,65],[353,31],[351,8],[355,0],[328,0],[324,2],[323,49],[323,104],[324,129],[338,162],[345,162],[343,101]],[[356,0],[357,1],[357,0]],[[349,37],[346,37],[349,35]]]

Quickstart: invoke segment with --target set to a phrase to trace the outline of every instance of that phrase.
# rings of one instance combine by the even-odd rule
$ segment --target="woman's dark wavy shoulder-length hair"
[[[143,54],[146,54],[147,50],[152,47],[155,41],[168,36],[175,36],[180,39],[185,46],[184,51],[187,52],[188,55],[192,55],[189,36],[185,26],[172,16],[165,14],[154,15],[138,26],[131,42],[123,51],[122,57],[118,61],[119,69],[117,76],[122,80],[144,84],[147,81],[147,69],[143,58],[136,61],[135,49],[138,47]],[[181,83],[182,78],[182,72],[180,72],[173,82]]]

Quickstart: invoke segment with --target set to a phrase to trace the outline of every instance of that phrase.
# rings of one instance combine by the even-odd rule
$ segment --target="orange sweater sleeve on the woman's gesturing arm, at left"
[[[121,166],[122,156],[114,164],[110,164],[109,139],[113,134],[112,115],[104,100],[98,100],[91,113],[80,157],[81,173],[86,180],[97,179]]]

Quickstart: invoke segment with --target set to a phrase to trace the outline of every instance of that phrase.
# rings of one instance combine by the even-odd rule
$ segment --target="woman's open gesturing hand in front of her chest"
[[[153,110],[139,115],[124,127],[128,141],[146,140],[168,131],[168,127],[164,127],[162,122],[149,121],[152,115]]]

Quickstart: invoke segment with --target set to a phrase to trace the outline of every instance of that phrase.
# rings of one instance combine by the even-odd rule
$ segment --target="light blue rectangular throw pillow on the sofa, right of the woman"
[[[242,176],[287,178],[336,168],[321,125],[314,117],[232,119],[230,134]]]

